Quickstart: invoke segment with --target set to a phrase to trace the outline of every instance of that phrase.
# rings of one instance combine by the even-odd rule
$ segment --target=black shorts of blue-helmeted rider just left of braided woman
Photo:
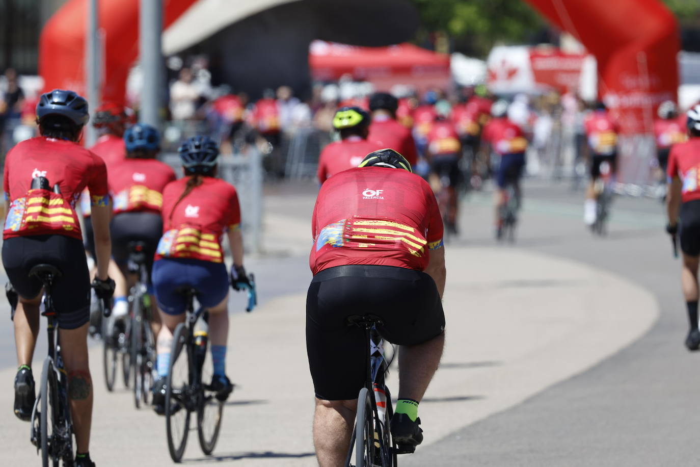
[[[146,270],[151,277],[153,256],[163,235],[163,220],[153,212],[123,212],[112,218],[109,224],[112,237],[112,258],[120,266],[129,260],[129,242],[144,242],[146,245]]]

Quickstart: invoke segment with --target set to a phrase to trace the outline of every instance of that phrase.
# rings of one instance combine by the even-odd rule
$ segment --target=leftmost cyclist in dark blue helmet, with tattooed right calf
[[[77,144],[88,118],[87,102],[73,91],[52,90],[41,95],[36,106],[41,136],[22,141],[8,153],[4,174],[2,260],[19,295],[13,316],[19,364],[15,414],[29,420],[35,398],[31,360],[39,330],[42,284],[29,277],[29,270],[48,263],[62,272],[52,296],[58,312],[61,356],[68,372],[77,466],[94,466],[88,450],[92,419],[92,379],[87,365],[90,272],[75,211],[75,202],[86,186],[92,200],[97,253],[93,284],[99,298],[109,298],[114,290],[114,282],[107,275],[111,213],[106,167],[101,158]],[[44,189],[47,179],[58,185],[60,193]]]

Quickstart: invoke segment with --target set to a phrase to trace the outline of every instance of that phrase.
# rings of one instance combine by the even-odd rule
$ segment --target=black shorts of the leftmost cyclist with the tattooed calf
[[[83,242],[65,235],[31,235],[8,238],[2,246],[2,263],[10,284],[22,298],[36,298],[43,284],[29,277],[38,264],[57,267],[62,275],[51,296],[59,328],[76,329],[90,320],[90,272]]]

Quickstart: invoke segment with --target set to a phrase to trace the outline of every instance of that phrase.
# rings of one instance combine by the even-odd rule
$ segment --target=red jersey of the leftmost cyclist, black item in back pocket
[[[52,190],[31,190],[31,179],[43,176]],[[109,195],[104,160],[71,141],[36,137],[12,148],[5,159],[5,198],[10,209],[3,239],[25,235],[67,235],[82,238],[75,206],[87,187],[92,204],[107,206]]]

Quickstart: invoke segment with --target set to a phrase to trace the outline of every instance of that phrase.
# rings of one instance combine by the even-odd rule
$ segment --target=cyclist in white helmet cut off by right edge
[[[685,346],[688,350],[697,350],[700,347],[700,330],[698,330],[700,105],[692,107],[687,112],[687,129],[688,141],[674,144],[668,155],[668,178],[671,182],[666,197],[668,207],[666,230],[671,235],[679,233],[683,258],[681,284],[690,325]]]

